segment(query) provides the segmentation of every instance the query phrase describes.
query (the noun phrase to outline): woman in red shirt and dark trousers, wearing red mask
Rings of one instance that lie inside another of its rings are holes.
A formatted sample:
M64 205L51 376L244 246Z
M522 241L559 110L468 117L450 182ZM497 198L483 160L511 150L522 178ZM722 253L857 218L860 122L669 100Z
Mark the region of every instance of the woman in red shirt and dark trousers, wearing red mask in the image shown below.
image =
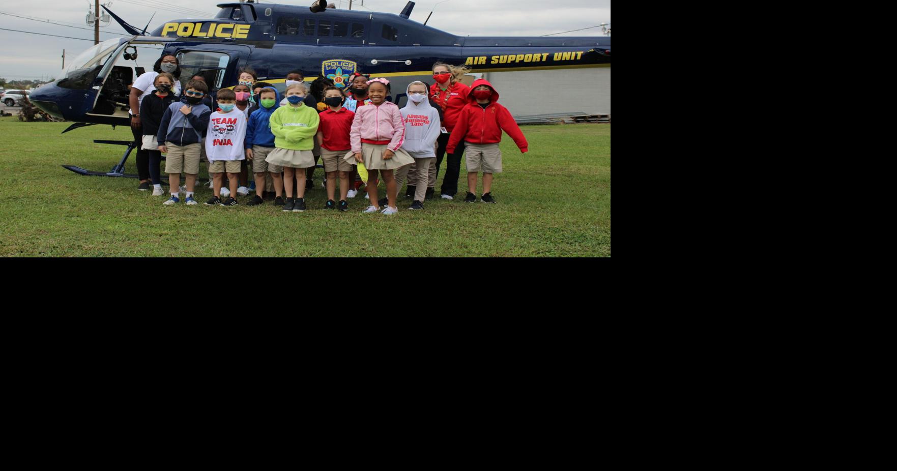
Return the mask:
M457 67L441 62L433 65L433 80L436 83L433 83L430 87L430 98L436 101L445 113L442 127L445 127L449 133L455 127L457 118L461 114L461 109L467 104L467 93L470 92L470 87L461 83L461 77L467 72L470 72L468 67ZM436 175L439 176L440 164L446 153L446 144L448 144L448 134L441 134L436 142L439 144L436 150ZM442 189L440 190L443 199L452 199L457 193L457 179L461 171L461 157L463 155L463 143L455 149L455 153L448 155L448 165L446 166L446 173L442 179ZM432 191L433 188L427 188L428 197L432 195Z

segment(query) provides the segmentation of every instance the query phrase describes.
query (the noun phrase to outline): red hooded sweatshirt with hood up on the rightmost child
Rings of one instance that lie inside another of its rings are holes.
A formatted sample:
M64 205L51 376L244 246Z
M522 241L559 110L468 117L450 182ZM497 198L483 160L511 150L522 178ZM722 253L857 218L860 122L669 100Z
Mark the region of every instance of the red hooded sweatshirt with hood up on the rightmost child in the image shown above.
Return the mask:
M483 109L476 102L474 90L480 85L488 85L492 89L492 96L489 97L489 105ZM514 143L520 148L521 153L529 150L527 138L524 137L520 127L514 118L511 118L510 111L498 103L499 92L483 79L478 79L470 87L470 94L467 95L467 104L457 118L455 129L448 138L447 153L454 153L457 144L464 139L470 144L498 144L501 143L501 131L508 133Z

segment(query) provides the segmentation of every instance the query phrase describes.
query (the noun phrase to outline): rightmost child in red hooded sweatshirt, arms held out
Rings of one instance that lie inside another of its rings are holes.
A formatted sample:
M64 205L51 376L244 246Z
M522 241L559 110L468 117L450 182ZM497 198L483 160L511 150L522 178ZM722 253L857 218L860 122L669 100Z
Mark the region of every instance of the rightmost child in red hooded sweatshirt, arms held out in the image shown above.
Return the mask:
M473 91L467 97L466 106L461 109L455 128L448 137L447 153L453 153L464 139L467 153L467 197L466 203L476 201L476 174L483 171L483 203L495 203L492 198L492 174L501 173L501 131L508 133L520 148L527 153L529 144L520 131L510 111L499 103L499 92L492 83L477 79Z

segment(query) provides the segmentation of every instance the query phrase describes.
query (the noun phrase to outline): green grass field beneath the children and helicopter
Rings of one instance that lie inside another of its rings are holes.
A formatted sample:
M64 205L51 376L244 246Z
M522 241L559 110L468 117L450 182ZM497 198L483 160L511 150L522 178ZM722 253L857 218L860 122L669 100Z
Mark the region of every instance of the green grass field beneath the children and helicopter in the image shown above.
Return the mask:
M505 135L504 172L492 186L496 205L463 202L465 162L454 201L422 211L361 214L363 194L347 213L325 211L327 192L306 192L305 213L271 202L238 207L163 206L137 191L136 179L83 177L73 164L108 171L124 147L93 139L132 139L126 127L76 129L70 123L0 118L0 256L3 257L609 257L611 126L522 126L530 151ZM443 162L444 171L445 162ZM164 170L164 163L162 164ZM127 162L136 173L135 159ZM437 183L437 193L440 188ZM205 178L205 164L201 178ZM481 187L477 194L482 193ZM167 187L163 187L167 188ZM380 188L381 193L384 188ZM200 188L202 203L212 190ZM402 190L400 195L404 195Z

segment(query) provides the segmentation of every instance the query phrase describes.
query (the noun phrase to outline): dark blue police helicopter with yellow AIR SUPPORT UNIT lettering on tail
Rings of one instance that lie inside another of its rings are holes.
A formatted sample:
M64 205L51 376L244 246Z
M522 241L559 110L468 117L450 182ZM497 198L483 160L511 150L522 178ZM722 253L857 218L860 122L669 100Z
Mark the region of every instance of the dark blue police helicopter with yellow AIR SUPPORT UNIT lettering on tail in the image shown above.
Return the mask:
M41 86L30 101L56 118L74 121L64 133L91 125L129 126L127 85L143 73L136 67L135 48L147 45L161 46L164 54L178 57L185 83L194 73L204 72L212 74L213 89L231 86L237 83L239 69L248 66L256 70L259 81L280 90L294 69L301 70L306 80L320 74L343 88L358 71L395 81L391 85L397 92L396 104L405 97L406 84L430 77L436 62L467 65L474 73L610 65L609 37L457 36L410 20L414 2L399 14L327 8L325 0L310 7L252 0L217 6L221 10L213 19L173 20L149 34L104 6L131 36L87 49L63 78ZM129 65L129 60L135 64ZM127 149L108 172L64 167L82 175L136 177L124 172L133 142L94 142Z

